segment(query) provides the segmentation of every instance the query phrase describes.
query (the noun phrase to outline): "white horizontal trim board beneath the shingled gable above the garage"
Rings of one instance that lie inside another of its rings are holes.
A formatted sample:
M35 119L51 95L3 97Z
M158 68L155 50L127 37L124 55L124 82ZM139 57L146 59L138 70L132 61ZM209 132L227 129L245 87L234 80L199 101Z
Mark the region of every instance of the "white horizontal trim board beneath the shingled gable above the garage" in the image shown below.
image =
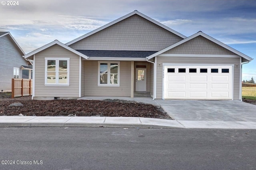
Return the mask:
M241 58L239 55L204 55L204 54L160 54L159 57L217 57L217 58Z

